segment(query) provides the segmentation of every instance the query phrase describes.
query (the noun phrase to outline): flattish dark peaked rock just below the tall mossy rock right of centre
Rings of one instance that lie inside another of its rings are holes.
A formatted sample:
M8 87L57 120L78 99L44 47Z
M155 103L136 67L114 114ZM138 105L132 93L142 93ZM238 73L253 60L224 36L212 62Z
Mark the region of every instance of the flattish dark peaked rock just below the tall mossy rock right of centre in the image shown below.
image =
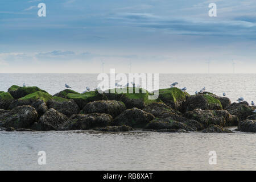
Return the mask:
M153 114L155 117L161 117L166 112L171 112L171 113L176 113L176 114L181 114L179 111L172 109L171 107L167 106L166 104L163 103L153 103L150 104L144 109L147 113Z

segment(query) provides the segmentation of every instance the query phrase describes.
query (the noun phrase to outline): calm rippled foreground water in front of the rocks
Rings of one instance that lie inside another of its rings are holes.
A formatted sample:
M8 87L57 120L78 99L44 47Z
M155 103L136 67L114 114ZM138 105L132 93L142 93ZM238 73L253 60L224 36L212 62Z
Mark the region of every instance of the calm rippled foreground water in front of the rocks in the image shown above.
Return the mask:
M181 170L256 169L255 134L0 131L0 169ZM39 166L38 151L47 163ZM217 164L209 165L209 151Z

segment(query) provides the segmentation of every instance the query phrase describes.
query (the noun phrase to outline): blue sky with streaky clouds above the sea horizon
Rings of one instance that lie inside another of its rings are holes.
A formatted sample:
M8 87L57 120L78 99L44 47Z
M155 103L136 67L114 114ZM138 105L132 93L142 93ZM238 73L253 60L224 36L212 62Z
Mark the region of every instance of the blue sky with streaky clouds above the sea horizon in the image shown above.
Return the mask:
M255 73L255 9L254 0L1 0L0 73L208 73L208 62L210 73Z

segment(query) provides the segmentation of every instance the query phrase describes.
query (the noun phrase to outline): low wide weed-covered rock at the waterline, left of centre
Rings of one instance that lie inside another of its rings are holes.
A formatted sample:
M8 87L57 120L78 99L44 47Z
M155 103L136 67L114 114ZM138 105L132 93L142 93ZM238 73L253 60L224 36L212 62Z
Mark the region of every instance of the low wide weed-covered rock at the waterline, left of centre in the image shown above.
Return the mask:
M95 127L112 125L113 118L109 114L76 114L69 118L64 130L88 130Z

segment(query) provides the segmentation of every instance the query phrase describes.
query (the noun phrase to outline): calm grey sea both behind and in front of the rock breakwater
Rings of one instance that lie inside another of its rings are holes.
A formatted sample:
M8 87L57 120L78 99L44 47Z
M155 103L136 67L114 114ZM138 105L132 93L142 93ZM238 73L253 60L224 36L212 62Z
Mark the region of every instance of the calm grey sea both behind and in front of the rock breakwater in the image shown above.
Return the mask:
M226 92L232 101L256 101L256 75L159 75L160 88L175 81L191 94L205 86L220 96ZM82 92L86 86L97 87L97 75L0 74L0 90L23 82L51 94L63 90L67 82ZM0 131L0 146L0 170L256 170L253 133ZM38 151L46 152L46 165L38 164ZM216 151L216 165L209 164L209 151Z

